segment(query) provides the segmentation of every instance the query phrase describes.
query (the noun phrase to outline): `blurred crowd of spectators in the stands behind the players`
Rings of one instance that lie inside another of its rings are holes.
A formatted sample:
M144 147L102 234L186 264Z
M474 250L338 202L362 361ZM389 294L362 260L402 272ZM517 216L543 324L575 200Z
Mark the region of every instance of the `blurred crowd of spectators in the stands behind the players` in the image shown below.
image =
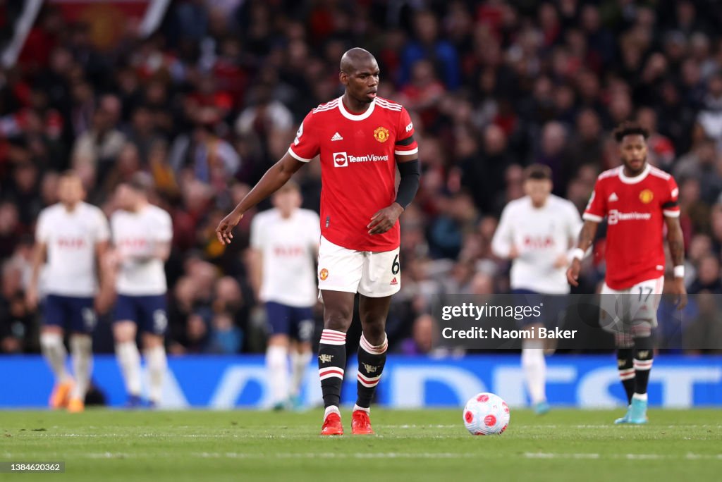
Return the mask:
M626 119L652 132L649 160L679 183L690 292L720 293L719 25L714 0L186 0L149 37L128 25L101 50L88 25L46 4L17 64L0 69L0 351L37 350L22 294L33 228L69 168L107 214L118 182L155 180L153 202L174 224L171 353L263 351L246 263L256 211L230 247L214 228L308 110L342 93L339 58L352 46L376 56L379 95L412 113L420 146L393 350L430 351L433 295L506 292L508 263L490 240L505 203L523 196L523 166L552 167L554 193L581 211L596 175L619 164L609 132ZM304 207L318 210L318 162L297 178ZM580 292L593 292L604 263L586 263ZM690 333L720 336L718 313L693 307Z

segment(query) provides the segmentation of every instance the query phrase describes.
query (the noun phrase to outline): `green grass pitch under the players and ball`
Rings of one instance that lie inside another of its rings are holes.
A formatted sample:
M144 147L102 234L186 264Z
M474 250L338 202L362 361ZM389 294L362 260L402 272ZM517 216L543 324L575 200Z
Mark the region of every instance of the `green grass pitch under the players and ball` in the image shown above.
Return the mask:
M473 437L458 410L372 412L376 436L319 437L321 410L0 412L0 461L60 461L64 474L0 481L671 481L722 480L722 411L511 412ZM350 411L342 411L350 432Z

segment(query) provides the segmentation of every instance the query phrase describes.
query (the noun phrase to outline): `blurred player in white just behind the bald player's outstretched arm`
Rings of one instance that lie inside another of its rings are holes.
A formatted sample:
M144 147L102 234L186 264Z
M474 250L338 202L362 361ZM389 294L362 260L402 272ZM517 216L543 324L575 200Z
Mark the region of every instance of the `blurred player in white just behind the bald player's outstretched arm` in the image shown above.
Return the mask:
M269 342L266 367L274 408L300 406L301 382L311 359L316 268L321 224L318 214L300 209L295 183L286 183L273 196L274 209L256 214L251 223L251 279L266 304ZM288 355L291 338L291 372Z

